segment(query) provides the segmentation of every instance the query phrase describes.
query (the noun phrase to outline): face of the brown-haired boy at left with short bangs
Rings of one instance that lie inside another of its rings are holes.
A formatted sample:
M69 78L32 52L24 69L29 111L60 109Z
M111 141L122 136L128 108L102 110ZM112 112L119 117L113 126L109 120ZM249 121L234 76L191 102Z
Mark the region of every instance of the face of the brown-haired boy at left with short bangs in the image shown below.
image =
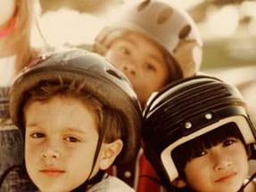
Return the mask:
M70 191L86 181L99 137L88 108L79 100L54 96L46 102L32 101L24 115L26 167L37 187ZM102 150L99 159L101 155Z

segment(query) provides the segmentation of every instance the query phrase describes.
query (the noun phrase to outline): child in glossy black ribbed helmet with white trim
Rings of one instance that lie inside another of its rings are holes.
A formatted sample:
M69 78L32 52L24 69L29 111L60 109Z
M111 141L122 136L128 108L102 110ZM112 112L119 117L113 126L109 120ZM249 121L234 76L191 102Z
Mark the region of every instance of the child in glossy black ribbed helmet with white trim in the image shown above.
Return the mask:
M168 191L256 191L256 132L235 86L206 75L170 84L148 101L142 132Z

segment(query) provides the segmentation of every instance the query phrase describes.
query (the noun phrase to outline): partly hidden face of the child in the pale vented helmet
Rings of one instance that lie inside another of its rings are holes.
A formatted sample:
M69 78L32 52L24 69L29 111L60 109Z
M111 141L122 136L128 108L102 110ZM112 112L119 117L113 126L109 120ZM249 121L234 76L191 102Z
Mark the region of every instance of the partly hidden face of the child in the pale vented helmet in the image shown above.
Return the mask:
M167 83L169 68L161 49L140 34L116 39L105 57L128 76L142 105Z

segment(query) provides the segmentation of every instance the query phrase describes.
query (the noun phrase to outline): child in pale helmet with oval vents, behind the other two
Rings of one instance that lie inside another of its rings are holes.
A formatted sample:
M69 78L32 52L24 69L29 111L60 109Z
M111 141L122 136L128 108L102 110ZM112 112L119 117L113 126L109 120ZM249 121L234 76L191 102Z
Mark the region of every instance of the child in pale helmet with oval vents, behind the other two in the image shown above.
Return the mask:
M128 76L143 107L152 92L199 70L202 39L186 12L162 1L143 1L131 4L118 19L96 36L95 52ZM137 160L117 167L117 176L138 192L159 191L151 180L140 178L156 175L138 154Z

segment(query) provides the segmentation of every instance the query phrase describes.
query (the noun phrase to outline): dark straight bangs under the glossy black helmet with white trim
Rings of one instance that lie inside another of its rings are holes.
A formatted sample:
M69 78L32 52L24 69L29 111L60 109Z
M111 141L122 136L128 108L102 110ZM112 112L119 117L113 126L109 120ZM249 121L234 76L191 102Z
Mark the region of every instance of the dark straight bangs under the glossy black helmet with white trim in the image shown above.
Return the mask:
M244 143L244 148L246 149L242 133L233 122L221 125L211 132L202 134L201 136L174 148L171 152L171 156L177 167L178 176L181 179L186 179L184 168L187 162L191 161L196 154L202 150L214 147L230 137L241 140Z

